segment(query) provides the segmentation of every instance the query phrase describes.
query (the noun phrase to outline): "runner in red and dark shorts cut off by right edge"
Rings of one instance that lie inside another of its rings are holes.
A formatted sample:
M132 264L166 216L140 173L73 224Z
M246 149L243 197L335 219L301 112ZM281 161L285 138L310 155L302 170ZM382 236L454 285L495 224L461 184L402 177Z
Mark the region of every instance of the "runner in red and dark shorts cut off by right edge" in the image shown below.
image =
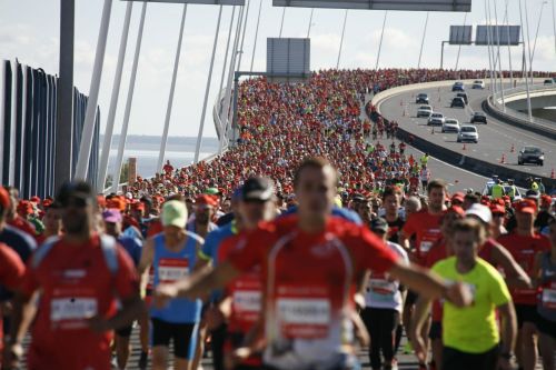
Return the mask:
M556 352L556 219L548 219L552 249L538 253L535 259L533 277L540 288L537 300L537 328L539 331L539 349L543 356L544 370L554 370Z

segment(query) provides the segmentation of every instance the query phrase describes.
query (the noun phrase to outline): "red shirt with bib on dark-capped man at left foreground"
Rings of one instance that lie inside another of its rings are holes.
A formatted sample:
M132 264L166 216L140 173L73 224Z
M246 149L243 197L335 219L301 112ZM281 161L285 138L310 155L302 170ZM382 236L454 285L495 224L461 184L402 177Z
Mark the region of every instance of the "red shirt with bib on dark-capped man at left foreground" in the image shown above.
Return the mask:
M100 238L93 236L81 246L59 241L37 268L28 267L22 293L41 290L29 349L30 369L110 369L112 333L92 332L86 318L109 318L117 311L116 297L125 300L138 292L133 262L121 247L117 259L118 271L110 272Z

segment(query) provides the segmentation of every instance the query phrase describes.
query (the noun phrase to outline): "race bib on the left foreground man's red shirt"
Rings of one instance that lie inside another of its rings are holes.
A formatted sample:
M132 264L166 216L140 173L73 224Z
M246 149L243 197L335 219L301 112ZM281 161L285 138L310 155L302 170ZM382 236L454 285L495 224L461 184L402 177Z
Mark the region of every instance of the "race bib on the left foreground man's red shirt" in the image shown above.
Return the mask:
M54 298L50 302L50 320L53 323L89 319L97 312L98 304L95 298Z

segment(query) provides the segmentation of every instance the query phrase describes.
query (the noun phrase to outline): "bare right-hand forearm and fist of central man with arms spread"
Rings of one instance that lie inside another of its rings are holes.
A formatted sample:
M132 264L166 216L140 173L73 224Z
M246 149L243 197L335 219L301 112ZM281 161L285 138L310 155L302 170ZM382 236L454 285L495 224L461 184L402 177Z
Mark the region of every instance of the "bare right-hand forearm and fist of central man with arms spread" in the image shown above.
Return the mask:
M389 271L394 279L428 299L444 298L457 307L471 303L471 292L461 283L447 284L436 273L419 266L396 263Z

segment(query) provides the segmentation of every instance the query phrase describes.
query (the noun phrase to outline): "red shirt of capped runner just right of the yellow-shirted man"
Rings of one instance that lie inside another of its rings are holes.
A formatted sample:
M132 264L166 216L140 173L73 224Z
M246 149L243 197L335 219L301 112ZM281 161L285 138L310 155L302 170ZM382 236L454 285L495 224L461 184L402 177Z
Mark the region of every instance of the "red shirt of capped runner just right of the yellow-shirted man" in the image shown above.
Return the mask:
M539 252L550 250L550 241L542 234L524 237L517 233L510 233L498 238L503 244L519 263L524 271L530 277L535 264L535 256ZM512 298L517 304L537 304L537 291L535 289L509 288Z

